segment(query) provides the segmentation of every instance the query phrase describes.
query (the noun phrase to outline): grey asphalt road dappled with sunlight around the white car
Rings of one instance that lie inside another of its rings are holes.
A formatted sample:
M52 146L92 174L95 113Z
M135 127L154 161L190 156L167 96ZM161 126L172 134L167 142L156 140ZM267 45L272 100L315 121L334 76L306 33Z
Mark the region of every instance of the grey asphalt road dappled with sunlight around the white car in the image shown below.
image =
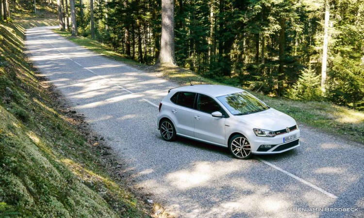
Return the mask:
M50 27L28 30L26 47L40 72L128 161L137 186L169 213L364 217L363 144L305 125L300 147L251 160L192 140L166 142L156 126L157 105L176 84L79 47ZM325 212L340 208L358 211Z

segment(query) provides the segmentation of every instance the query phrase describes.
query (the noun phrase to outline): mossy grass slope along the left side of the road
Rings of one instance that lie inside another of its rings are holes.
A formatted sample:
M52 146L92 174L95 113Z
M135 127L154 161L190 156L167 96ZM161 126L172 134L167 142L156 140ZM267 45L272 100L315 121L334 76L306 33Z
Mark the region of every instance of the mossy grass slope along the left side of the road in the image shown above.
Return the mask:
M25 60L24 28L53 16L0 21L0 217L149 217Z

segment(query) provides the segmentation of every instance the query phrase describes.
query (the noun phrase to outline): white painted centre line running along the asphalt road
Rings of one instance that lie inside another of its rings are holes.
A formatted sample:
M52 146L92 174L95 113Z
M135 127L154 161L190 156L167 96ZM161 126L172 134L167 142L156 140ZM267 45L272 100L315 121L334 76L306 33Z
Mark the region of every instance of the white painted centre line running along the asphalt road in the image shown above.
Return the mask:
M42 34L42 36L43 36L43 34ZM43 36L43 38L47 41L47 39L46 39L46 37L44 37ZM49 43L48 41L47 41L47 43ZM50 44L50 43L49 43ZM52 44L50 44L54 49L56 49L59 53L61 53L63 56L65 56L67 59L69 59L69 60L71 60L72 62L75 62L75 61L73 61L72 59L70 59L70 58L68 58L64 53L62 53L61 51L59 51L56 47L54 47ZM75 62L76 64L78 64L78 65L80 65L81 67L83 67L83 65L81 65L80 63L78 63L78 62ZM124 64L124 65L127 65L127 64ZM123 65L123 66L124 66ZM95 73L95 72L93 72L92 70L90 70L90 69L87 69L86 67L83 67L84 69L86 69L86 70L88 70L88 71L90 71L90 72L92 72L93 74L95 74L95 75L97 75L97 76L99 76L99 77L101 77L101 78L103 78L103 79L106 79L106 80L109 80L108 78L105 78L105 77L103 77L103 76L101 76L101 75L99 75L99 74L97 74L97 73ZM126 92L128 92L128 93L131 93L131 94L133 94L133 92L131 92L131 91L129 91L128 89L125 89L124 87L122 87L122 86L119 86L119 85L116 85L117 87L119 87L119 88L121 88L122 90L124 90L124 91L126 91ZM145 99L145 98L142 98L144 101L146 101L146 102L148 102L150 105L152 105L152 106L155 106L155 107L157 107L157 108L159 108L159 106L158 105L156 105L156 104L154 104L154 103L152 103L152 102L150 102L149 100L147 100L147 99ZM290 176L290 177L292 177L292 178L294 178L294 179L296 179L296 180L298 180L299 182L301 182L301 183L303 183L303 184L305 184L305 185L307 185L307 186L309 186L309 187L312 187L312 188L314 188L314 189L316 189L317 191L319 191L319 192L321 192L321 193L323 193L323 194L325 194L325 195L327 195L327 196L329 196L329 197L331 197L331 198L334 198L334 199L336 199L337 198L337 196L336 195L333 195L333 194L331 194L330 192L327 192L327 191L325 191L324 189L322 189L322 188L320 188L320 187L317 187L317 186L315 186L314 184L312 184L312 183L310 183L310 182L307 182L306 180L304 180L304 179L301 179L301 178L299 178L298 176L296 176L296 175L294 175L294 174L292 174L292 173L290 173L290 172L288 172L288 171L285 171L285 170L283 170L283 169L281 169L281 168L279 168L279 167L277 167L276 165L274 165L274 164L272 164L272 163L269 163L268 161L265 161L265 160L262 160L261 158L256 158L256 159L258 159L259 161L261 161L262 163L265 163L266 165L268 165L268 166L270 166L270 167L272 167L272 168L274 168L274 169L276 169L276 170L278 170L278 171L281 171L281 172L283 172L283 173L285 173L286 175L288 175L288 176Z

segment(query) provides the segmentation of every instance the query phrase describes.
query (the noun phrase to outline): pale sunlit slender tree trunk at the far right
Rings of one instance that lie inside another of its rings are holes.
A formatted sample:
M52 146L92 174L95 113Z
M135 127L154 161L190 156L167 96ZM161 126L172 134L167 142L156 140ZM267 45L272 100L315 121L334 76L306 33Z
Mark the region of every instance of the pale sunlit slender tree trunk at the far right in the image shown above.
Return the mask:
M329 41L329 19L330 5L329 1L325 1L325 27L324 27L324 45L322 49L322 69L321 69L321 90L325 92L326 70L327 70L327 46Z

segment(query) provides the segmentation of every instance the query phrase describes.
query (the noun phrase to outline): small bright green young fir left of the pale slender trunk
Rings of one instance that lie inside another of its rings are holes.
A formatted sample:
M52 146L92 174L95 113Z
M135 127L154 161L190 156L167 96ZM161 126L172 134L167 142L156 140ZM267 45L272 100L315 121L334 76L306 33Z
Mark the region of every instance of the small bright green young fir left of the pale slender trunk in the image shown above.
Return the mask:
M321 77L316 75L311 64L301 71L297 82L289 91L289 97L295 100L318 101L322 100Z

